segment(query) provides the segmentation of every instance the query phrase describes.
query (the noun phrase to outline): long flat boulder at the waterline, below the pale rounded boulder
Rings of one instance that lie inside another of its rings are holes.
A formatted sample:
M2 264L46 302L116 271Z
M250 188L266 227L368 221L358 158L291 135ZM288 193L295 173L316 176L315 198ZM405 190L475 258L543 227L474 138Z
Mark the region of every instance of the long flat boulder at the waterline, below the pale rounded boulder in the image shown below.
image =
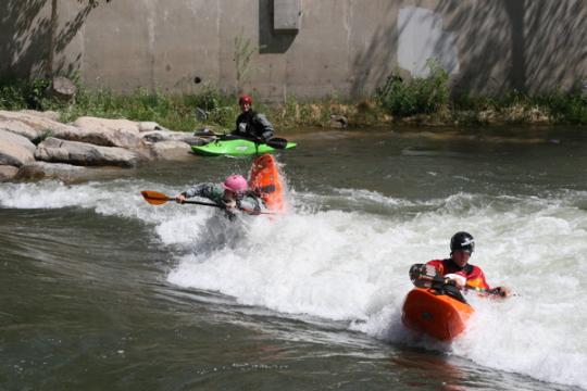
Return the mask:
M135 166L145 159L138 152L117 147L99 147L78 141L66 141L50 137L42 141L35 157L45 162L68 163L74 165L115 165Z

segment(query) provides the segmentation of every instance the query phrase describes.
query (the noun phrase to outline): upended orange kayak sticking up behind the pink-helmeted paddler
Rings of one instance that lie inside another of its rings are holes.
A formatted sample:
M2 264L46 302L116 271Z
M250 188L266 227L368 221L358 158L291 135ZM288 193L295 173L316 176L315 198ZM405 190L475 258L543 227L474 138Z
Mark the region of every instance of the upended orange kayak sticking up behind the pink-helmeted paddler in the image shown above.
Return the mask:
M267 210L284 212L284 185L275 157L265 153L255 157L249 176L249 186L265 203Z

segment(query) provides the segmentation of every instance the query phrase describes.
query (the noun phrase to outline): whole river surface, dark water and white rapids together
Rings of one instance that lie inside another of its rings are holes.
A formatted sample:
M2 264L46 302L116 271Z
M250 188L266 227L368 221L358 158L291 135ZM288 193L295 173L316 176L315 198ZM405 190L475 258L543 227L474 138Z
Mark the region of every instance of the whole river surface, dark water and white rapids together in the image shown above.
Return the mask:
M140 197L249 157L0 184L0 389L587 389L587 129L287 136L274 219ZM458 230L517 295L441 344L401 304Z

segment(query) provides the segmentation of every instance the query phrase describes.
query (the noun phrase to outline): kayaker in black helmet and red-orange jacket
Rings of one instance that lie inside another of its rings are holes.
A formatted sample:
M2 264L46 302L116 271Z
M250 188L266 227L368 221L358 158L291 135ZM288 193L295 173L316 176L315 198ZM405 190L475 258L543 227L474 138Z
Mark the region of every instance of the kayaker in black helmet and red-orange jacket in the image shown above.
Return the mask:
M475 239L469 232L457 232L450 239L450 258L427 262L440 275L454 281L459 288L479 289L487 293L510 295L507 287L491 288L485 279L480 267L471 265L469 258L475 250Z

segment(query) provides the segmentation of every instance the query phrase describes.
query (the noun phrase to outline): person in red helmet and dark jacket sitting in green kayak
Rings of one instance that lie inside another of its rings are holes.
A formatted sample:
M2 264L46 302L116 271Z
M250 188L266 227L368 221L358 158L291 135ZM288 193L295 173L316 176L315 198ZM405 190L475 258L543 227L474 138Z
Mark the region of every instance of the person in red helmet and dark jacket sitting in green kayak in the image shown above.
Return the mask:
M252 98L250 96L242 94L238 99L238 104L241 113L236 119L236 129L230 135L255 142L265 142L273 137L273 125L264 114L259 114L252 110Z

